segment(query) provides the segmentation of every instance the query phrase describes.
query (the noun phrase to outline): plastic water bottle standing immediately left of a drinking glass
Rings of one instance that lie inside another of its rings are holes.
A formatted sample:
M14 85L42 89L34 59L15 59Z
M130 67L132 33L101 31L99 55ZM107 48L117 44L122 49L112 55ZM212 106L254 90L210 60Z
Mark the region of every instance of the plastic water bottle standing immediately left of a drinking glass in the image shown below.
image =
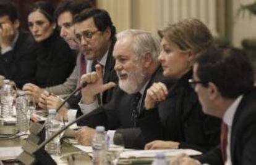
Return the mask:
M107 164L106 159L106 135L105 127L97 126L96 134L92 140L93 149L93 164L94 165L105 165Z

